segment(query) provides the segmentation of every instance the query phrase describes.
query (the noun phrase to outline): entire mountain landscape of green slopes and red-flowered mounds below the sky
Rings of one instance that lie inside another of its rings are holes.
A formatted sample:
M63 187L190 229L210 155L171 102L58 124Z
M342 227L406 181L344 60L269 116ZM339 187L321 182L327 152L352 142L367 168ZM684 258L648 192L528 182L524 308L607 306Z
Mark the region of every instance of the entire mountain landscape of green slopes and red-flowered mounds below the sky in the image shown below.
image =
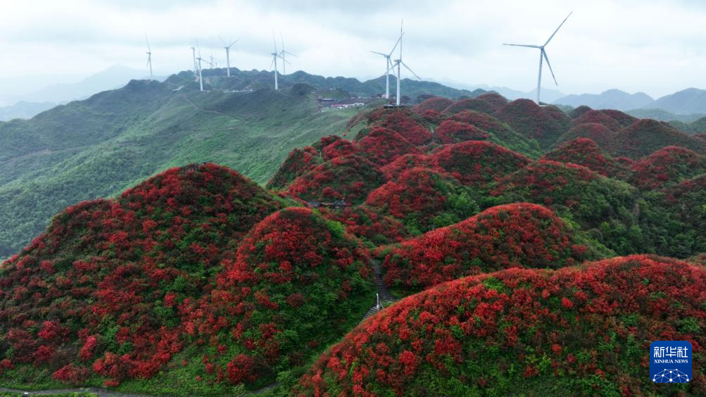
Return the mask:
M703 261L700 137L496 95L339 111L306 83L188 75L0 123L0 230L71 200L0 266L1 385L654 395L640 346L706 343L704 268L657 256ZM704 395L693 375L679 391Z

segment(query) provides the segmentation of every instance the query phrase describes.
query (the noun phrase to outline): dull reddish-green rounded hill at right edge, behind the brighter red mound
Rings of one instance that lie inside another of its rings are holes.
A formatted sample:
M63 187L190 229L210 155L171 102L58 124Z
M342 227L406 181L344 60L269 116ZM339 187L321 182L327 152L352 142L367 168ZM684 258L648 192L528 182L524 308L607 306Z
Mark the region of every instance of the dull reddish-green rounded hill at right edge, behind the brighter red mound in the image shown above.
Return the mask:
M706 155L706 142L685 134L664 122L642 119L621 129L604 148L611 155L639 159L666 146L681 146Z

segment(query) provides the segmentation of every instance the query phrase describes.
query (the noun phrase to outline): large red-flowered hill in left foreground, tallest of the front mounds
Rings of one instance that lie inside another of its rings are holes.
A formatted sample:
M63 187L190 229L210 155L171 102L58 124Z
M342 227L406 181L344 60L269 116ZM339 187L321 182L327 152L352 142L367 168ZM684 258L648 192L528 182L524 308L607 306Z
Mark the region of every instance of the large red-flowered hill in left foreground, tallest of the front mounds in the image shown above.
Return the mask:
M236 172L205 164L67 208L2 266L1 358L71 384L90 368L110 384L152 377L184 347L167 302L208 293L205 275L279 207Z

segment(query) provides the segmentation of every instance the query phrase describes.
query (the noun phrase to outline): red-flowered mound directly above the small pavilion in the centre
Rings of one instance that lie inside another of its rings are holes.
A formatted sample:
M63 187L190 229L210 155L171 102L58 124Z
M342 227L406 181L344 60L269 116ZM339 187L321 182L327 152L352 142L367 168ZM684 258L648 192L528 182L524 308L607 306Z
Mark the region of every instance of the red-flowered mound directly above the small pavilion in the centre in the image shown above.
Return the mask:
M364 201L368 193L383 184L378 167L358 155L347 155L322 165L294 179L287 193L303 200L349 203Z

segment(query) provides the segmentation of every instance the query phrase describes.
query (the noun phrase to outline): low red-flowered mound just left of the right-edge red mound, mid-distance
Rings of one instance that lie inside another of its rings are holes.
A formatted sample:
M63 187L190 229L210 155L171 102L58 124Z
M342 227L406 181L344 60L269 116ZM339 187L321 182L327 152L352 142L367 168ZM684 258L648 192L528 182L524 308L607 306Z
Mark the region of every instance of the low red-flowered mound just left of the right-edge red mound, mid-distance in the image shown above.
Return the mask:
M573 162L606 177L626 177L628 169L604 155L603 150L589 138L576 138L542 156L540 160Z

